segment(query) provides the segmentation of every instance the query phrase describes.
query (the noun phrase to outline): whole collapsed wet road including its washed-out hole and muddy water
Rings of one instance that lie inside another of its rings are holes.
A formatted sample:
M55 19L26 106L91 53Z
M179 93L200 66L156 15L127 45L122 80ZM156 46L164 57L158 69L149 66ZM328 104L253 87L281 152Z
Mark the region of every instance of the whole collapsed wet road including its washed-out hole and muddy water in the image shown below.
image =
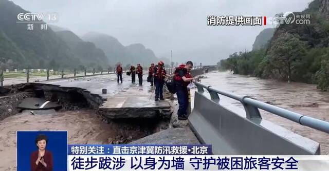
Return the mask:
M114 74L0 87L0 170L16 169L17 130L67 130L75 144L199 143L187 127L173 128L187 126L172 115L177 102L155 102L153 91Z

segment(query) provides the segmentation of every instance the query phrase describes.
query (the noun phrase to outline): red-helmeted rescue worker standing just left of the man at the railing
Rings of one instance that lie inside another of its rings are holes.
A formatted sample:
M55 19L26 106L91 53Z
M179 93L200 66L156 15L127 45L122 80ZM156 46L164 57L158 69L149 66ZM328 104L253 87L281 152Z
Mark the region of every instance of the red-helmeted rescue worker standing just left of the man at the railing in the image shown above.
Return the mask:
M165 84L165 76L169 76L166 73L165 70L165 63L162 61L159 61L157 67L154 70L153 76L154 76L154 84L155 84L155 101L159 100L165 100L163 98L163 84Z

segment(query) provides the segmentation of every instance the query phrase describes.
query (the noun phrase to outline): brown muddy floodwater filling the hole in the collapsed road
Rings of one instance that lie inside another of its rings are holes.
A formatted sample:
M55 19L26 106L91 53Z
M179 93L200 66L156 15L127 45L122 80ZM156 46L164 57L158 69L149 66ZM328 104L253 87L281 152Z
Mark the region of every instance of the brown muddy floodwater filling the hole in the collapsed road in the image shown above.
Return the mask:
M16 170L16 131L68 131L69 144L107 144L122 135L143 137L138 129L123 130L115 123L105 123L93 110L53 112L31 115L28 111L0 121L0 170Z

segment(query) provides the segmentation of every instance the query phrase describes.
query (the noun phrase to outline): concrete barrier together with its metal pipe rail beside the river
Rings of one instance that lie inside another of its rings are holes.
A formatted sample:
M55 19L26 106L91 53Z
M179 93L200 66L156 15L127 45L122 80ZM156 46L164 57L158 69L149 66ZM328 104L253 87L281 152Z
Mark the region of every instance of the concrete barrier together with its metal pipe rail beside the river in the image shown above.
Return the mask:
M195 82L189 125L201 143L217 155L320 155L320 144L262 119L260 109L329 133L329 123L287 111L249 96L216 90ZM208 92L206 92L206 90ZM245 110L231 111L220 96L240 101ZM245 114L244 114L245 112Z

